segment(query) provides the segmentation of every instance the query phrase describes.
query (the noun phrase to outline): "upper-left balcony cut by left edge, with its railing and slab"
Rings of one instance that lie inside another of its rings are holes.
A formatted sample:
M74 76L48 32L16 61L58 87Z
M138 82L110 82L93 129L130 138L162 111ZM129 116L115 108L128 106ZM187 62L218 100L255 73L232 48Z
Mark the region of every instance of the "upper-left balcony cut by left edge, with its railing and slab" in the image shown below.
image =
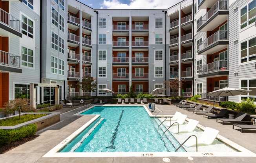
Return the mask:
M0 9L0 35L2 37L22 37L20 20L3 9Z

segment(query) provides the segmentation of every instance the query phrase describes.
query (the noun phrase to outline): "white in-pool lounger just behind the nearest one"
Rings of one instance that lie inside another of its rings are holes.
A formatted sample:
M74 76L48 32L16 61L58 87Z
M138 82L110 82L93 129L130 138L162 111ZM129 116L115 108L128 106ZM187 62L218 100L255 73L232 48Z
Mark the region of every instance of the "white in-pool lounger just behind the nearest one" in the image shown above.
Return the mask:
M196 129L196 126L198 125L199 121L196 120L188 120L188 123L186 125L180 125L179 126L179 133L180 132L192 132ZM178 133L178 128L177 127L171 127L169 129L170 132L172 132L173 134L177 134Z

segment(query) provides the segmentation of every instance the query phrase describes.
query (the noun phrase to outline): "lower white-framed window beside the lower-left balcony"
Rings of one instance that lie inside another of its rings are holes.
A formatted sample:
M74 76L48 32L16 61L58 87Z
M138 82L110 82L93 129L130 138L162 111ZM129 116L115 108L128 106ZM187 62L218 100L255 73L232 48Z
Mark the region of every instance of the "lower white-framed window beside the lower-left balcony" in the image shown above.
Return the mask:
M34 67L34 52L26 47L21 47L21 65Z

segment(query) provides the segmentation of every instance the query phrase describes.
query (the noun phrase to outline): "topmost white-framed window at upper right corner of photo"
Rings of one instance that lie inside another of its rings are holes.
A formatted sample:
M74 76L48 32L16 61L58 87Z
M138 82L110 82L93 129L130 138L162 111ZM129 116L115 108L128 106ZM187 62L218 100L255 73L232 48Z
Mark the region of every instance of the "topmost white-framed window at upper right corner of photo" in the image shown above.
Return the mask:
M256 21L256 0L240 10L240 29L247 27Z

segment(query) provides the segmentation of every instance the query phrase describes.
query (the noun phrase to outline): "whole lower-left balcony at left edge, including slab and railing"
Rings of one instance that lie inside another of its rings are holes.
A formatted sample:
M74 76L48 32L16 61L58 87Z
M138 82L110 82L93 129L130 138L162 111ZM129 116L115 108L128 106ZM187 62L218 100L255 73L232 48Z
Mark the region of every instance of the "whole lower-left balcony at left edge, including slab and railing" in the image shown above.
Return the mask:
M22 73L22 69L20 69L20 56L0 51L0 71Z

